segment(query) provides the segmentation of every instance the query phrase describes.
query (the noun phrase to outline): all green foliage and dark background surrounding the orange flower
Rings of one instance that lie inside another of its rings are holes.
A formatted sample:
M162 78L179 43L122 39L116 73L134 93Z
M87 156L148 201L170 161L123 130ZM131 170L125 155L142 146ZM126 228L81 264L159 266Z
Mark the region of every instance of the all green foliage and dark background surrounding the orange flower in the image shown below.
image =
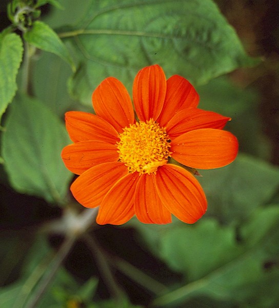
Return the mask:
M22 20L21 5L33 8ZM14 0L0 8L1 307L277 307L277 2ZM226 129L240 153L200 171L208 211L194 225L97 226L69 192L64 113L92 112L91 93L109 75L131 92L136 72L155 63L189 79L200 108L232 118ZM79 233L83 222L89 229Z

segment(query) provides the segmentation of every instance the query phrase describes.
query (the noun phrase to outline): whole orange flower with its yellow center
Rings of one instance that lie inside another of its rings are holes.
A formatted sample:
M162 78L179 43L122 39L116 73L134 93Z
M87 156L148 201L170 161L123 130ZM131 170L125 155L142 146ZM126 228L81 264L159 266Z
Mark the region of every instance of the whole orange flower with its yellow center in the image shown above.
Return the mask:
M95 114L66 113L73 144L62 158L79 175L71 192L83 206L99 206L98 224L120 225L134 215L154 224L170 223L171 214L186 223L202 217L206 197L188 170L230 164L238 142L222 130L230 118L198 109L198 101L186 79L166 80L153 65L137 73L133 105L124 85L109 77L92 94Z

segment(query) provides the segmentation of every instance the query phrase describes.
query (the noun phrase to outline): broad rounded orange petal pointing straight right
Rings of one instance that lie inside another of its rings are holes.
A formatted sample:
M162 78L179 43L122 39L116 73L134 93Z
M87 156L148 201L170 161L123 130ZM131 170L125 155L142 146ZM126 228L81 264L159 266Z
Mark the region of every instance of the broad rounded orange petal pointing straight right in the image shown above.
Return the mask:
M171 142L172 158L196 169L224 167L235 159L237 151L232 133L213 128L191 130Z

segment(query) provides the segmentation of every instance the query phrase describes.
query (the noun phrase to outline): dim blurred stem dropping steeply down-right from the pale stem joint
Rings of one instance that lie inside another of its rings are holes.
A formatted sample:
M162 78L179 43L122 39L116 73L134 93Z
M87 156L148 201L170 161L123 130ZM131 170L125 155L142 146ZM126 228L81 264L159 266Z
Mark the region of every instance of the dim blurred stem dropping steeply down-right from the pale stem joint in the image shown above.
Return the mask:
M83 236L83 239L85 240L87 246L90 248L92 254L94 255L100 274L104 279L105 284L108 287L112 297L115 298L116 302L120 304L124 298L124 293L118 286L111 273L111 269L106 262L106 256L102 252L93 235L85 234Z

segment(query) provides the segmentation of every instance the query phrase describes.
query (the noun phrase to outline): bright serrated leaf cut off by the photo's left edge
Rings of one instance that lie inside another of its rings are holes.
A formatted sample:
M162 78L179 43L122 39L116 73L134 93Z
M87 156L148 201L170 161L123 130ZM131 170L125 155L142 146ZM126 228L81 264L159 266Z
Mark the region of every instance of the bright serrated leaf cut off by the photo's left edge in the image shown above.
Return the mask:
M15 33L0 33L0 119L17 90L16 75L22 62L23 44Z

